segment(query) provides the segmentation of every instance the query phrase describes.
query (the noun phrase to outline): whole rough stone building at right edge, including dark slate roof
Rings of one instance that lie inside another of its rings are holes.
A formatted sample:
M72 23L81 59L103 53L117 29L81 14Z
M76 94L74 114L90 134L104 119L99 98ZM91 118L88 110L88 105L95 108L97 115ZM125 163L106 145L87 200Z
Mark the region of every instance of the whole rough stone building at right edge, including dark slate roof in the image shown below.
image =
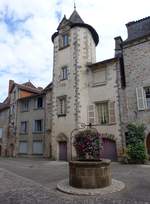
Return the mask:
M126 26L128 38L116 39L116 55L124 61L125 86L118 83L122 136L125 138L128 123L144 123L145 144L150 154L150 17Z

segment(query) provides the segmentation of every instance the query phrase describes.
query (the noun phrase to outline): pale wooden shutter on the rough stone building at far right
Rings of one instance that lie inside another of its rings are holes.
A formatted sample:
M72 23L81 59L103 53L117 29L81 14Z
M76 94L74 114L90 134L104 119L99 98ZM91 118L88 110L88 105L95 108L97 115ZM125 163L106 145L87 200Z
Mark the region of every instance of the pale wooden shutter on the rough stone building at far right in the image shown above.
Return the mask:
M138 110L145 110L147 107L146 96L143 87L136 88L137 107Z

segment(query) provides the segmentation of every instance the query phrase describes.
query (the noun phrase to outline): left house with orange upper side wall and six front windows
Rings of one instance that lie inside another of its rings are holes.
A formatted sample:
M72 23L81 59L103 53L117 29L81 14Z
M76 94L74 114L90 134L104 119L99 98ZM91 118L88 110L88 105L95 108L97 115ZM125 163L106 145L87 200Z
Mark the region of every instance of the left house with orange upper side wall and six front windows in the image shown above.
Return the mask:
M9 82L8 156L49 157L46 93L31 82ZM48 96L48 94L47 94Z

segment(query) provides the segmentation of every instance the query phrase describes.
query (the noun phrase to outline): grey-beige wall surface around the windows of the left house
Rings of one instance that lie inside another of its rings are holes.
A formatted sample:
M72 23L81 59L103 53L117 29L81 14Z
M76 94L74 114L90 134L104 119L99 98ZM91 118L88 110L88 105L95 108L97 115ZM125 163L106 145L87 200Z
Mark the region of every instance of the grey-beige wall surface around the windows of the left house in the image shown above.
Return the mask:
M16 152L19 154L19 142L27 141L28 143L28 155L32 155L33 151L33 141L43 142L43 149L45 150L45 96L43 95L43 108L35 108L35 100L37 97L28 98L29 100L29 111L21 111L21 101L18 101L18 111L17 111L17 132L16 132ZM41 133L34 133L33 123L34 120L43 120L43 131ZM28 121L28 134L20 133L20 124L22 121Z

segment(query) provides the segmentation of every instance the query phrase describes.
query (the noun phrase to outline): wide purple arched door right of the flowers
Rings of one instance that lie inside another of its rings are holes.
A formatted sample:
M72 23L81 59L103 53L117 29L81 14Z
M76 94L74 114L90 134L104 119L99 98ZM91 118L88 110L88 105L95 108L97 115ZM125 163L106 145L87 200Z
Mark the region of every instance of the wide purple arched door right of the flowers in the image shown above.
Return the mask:
M101 151L101 158L116 161L117 160L116 142L108 138L103 138L102 142L103 149Z

